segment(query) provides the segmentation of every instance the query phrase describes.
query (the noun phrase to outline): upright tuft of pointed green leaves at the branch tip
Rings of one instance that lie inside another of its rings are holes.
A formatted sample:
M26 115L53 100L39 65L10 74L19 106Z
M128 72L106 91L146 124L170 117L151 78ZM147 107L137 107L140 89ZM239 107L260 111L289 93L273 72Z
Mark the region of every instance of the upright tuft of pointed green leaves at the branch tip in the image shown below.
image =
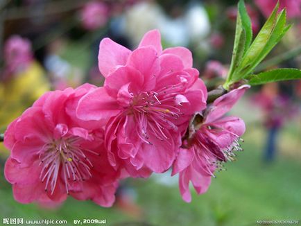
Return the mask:
M290 26L286 26L286 10L277 14L278 8L279 1L252 42L250 17L248 17L243 0L239 1L232 61L227 80L223 84L224 89L229 90L235 82L250 78L250 73L289 30Z

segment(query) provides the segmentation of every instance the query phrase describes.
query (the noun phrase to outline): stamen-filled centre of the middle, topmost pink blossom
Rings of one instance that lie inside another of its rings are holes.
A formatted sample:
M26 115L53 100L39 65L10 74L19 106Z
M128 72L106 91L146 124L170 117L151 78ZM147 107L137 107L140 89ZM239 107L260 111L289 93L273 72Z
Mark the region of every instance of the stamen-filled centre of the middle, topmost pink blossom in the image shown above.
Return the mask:
M179 94L178 85L163 87L158 92L140 92L132 97L128 114L135 116L138 126L139 138L152 145L149 132L157 139L169 139L168 130L177 130L175 121L184 113L180 110L180 104L175 103L175 96Z

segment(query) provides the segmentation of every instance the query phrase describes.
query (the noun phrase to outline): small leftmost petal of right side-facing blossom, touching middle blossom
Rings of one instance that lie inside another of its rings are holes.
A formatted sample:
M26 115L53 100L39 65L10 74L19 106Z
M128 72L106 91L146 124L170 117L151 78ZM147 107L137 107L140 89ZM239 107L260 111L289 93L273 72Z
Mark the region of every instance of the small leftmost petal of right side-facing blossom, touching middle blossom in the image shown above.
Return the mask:
M175 162L173 163L173 172L171 175L173 176L187 168L191 164L193 157L193 149L180 148L177 159L175 159Z

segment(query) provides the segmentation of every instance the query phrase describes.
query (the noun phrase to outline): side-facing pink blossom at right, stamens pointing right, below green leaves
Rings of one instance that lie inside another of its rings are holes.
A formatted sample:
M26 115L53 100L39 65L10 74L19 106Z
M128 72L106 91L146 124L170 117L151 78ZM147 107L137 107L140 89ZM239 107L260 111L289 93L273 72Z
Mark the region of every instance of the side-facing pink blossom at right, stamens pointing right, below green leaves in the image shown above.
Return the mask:
M222 116L248 87L243 85L234 89L209 105L205 110L203 122L184 142L186 148L180 148L173 164L172 175L180 173L179 186L184 201L191 201L189 181L198 194L205 193L216 168L221 168L223 162L233 159L233 150L242 150L238 141L245 132L245 124L234 116Z

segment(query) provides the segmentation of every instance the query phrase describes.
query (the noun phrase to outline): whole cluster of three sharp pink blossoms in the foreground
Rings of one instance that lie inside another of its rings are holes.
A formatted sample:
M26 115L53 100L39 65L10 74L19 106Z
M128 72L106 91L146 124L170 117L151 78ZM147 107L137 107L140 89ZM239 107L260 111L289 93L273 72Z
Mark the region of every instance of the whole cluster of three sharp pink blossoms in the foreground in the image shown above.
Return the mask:
M162 50L158 31L134 51L103 39L98 67L103 87L48 92L8 127L5 175L19 202L71 195L109 207L120 180L170 168L189 202L189 182L204 193L214 171L241 150L243 121L223 115L248 86L207 104L191 52Z

